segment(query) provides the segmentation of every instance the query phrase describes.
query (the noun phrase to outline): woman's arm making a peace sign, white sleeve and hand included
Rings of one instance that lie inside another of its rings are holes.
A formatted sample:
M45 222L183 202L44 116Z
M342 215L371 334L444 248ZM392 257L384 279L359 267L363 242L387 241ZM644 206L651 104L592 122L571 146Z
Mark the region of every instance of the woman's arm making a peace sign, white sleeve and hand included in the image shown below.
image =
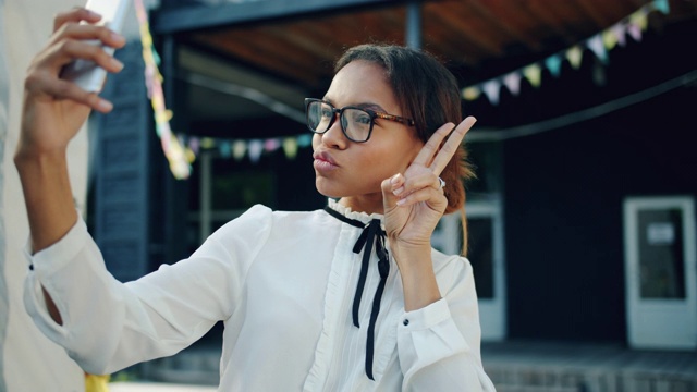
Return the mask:
M440 287L430 244L448 206L439 175L474 123L469 117L441 126L403 174L382 182L386 230L408 315L398 327L403 391L493 391L479 357L472 267L451 260L441 275L453 283Z

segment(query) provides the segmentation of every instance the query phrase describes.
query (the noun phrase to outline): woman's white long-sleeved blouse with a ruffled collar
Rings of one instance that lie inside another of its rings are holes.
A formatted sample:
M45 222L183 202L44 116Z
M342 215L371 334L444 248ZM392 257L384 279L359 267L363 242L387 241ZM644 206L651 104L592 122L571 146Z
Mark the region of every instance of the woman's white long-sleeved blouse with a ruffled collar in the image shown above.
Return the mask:
M382 216L329 206L364 223ZM493 391L479 353L472 266L432 250L442 299L405 311L390 256L375 322L374 380L367 330L380 274L371 254L352 320L364 232L327 211L252 207L189 258L125 284L105 268L84 222L29 254L25 306L39 329L90 373L169 356L224 321L220 391ZM388 245L389 249L389 245ZM48 315L41 285L62 326Z

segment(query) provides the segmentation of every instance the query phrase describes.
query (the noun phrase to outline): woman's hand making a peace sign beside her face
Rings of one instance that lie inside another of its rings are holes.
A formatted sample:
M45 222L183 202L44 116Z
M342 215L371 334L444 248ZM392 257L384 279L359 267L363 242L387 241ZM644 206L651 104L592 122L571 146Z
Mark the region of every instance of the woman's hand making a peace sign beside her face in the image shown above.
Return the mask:
M402 252L430 249L431 234L448 207L439 175L475 122L475 118L468 117L457 126L442 125L404 174L382 182L384 224L398 265Z

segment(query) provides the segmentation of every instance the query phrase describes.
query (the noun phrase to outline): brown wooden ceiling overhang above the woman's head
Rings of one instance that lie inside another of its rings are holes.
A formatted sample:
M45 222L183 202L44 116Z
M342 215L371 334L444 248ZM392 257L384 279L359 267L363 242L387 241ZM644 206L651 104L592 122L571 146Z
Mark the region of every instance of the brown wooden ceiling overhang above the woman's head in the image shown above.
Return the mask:
M420 46L474 83L538 60L612 26L646 0L258 0L167 7L157 36L220 54L262 73L326 87L332 62L351 46L405 44L418 9ZM670 1L664 17L697 15L697 0ZM412 20L413 21L413 20Z

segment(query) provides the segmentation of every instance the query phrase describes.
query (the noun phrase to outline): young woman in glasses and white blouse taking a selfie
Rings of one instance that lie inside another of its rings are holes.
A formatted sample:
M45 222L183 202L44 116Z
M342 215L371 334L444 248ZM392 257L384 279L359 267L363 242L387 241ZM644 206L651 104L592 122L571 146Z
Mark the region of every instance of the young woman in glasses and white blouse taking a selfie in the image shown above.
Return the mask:
M65 164L89 110L111 105L60 69L76 58L121 69L82 42L124 44L78 24L98 19L59 15L25 83L15 154L32 229L25 304L44 333L86 371L108 373L175 354L223 320L221 391L493 390L472 267L430 246L470 175L461 145L474 119L460 122L442 65L401 47L350 49L325 97L306 100L327 208L255 206L189 258L122 284L73 208Z

